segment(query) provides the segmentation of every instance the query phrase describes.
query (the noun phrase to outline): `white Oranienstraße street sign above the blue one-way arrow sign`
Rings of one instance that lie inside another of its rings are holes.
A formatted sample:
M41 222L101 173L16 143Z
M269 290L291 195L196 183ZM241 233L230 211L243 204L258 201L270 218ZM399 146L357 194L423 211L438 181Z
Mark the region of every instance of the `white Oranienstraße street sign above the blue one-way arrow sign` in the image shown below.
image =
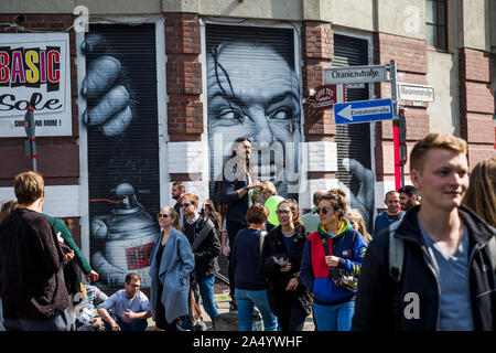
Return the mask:
M324 68L324 85L388 81L386 65Z

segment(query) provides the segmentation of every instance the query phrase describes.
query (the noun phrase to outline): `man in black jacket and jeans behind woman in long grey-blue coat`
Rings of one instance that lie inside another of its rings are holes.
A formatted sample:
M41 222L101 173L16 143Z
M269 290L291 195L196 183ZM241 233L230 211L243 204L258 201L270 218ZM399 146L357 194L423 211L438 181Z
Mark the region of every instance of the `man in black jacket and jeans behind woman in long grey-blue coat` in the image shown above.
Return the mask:
M214 302L214 282L215 274L220 269L217 261L220 255L220 240L214 223L198 214L198 197L195 194L184 194L182 210L185 216L183 233L190 240L195 256L192 287L196 287L196 284L200 286L203 306L215 324L218 310Z

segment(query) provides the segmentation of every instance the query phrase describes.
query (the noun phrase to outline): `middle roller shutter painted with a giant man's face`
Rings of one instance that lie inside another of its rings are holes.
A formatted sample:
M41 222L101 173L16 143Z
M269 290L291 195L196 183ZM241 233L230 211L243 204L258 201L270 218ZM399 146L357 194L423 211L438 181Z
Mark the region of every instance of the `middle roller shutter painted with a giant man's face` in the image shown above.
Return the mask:
M247 136L254 147L265 142L270 145L271 141L281 141L282 146L288 141L298 143L301 141L301 111L300 85L294 65L294 30L208 23L205 33L212 196L214 181L222 180L222 167L229 158L236 138ZM278 79L270 78L274 72L281 73ZM218 104L218 99L224 100ZM256 108L263 110L260 116L254 114ZM276 109L279 110L273 113ZM230 117L229 115L238 117L242 122L226 128L231 122L222 118ZM274 117L283 119L274 122ZM265 133L263 128L257 130L261 120L272 124L270 133ZM283 135L281 131L284 132L283 138L280 137ZM252 156L258 158L259 167L263 168L256 148ZM284 158L278 158L271 152L271 165L283 165L285 170L287 160L285 153ZM262 170L262 174L259 172L258 180L270 179L279 194L298 197L298 194L288 192L285 180L274 182L277 173L273 169L270 176L267 170ZM219 265L220 274L227 277L227 258L220 256Z

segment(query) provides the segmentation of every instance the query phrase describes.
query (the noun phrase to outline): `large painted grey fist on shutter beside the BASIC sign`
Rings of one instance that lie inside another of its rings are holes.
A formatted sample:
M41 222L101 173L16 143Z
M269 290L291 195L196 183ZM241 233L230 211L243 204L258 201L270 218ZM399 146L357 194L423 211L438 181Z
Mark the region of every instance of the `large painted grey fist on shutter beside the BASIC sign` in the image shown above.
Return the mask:
M120 135L133 117L130 93L122 83L122 65L106 53L105 39L99 35L88 35L80 49L86 55L101 54L91 62L83 81L82 96L87 101L83 121L98 126L105 136Z

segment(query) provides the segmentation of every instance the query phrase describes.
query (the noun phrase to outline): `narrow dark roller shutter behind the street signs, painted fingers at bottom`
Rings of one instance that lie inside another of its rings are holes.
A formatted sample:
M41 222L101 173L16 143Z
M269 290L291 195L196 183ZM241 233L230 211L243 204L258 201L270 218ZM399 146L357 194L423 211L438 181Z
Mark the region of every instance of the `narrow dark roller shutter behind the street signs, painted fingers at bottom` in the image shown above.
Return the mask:
M334 34L334 57L333 66L368 65L368 41L347 35ZM346 87L346 100L369 99L369 84L363 88ZM336 126L335 141L337 143L337 165L336 178L346 185L354 197L351 206L358 208L366 221L367 227L371 229L374 215L374 184L370 178L363 173L351 173L343 167L343 159L354 159L371 173L370 160L370 124L345 124ZM364 185L364 183L366 183ZM360 189L362 186L362 189ZM365 188L365 190L364 190Z

